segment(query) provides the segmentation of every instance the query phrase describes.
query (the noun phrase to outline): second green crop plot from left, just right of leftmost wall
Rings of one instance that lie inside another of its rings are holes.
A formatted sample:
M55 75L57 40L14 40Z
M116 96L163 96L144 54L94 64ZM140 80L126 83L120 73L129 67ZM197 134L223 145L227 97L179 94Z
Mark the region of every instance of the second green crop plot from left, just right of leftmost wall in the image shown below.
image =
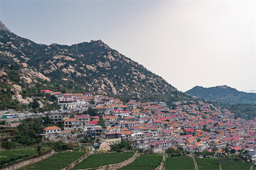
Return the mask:
M21 170L59 170L79 159L84 153L85 152L57 153L43 161L26 166Z

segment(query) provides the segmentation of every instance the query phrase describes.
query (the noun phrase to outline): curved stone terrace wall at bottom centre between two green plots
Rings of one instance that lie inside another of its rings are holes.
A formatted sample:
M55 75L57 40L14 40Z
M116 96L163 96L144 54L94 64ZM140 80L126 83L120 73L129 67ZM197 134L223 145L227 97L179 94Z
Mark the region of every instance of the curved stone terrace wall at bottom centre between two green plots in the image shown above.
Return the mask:
M133 157L131 157L123 162L117 163L117 164L110 164L110 165L105 165L102 167L95 167L95 168L87 168L87 169L83 169L83 170L117 170L121 167L125 167L126 165L131 164L131 162L133 162L136 158L137 158L137 154L135 154Z

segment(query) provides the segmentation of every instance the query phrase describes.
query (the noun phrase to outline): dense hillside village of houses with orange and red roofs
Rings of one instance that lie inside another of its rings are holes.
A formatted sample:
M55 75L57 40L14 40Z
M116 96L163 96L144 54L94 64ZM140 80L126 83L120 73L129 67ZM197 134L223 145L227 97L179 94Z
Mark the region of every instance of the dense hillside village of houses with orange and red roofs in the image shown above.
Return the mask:
M55 116L57 120L58 116L62 118L64 130L58 126L47 127L42 135L53 140L54 137L81 130L84 137L95 137L108 144L122 140L135 141L134 147L144 150L154 147L154 152L181 147L190 152L207 150L222 153L227 147L237 152L247 150L252 155L250 157L256 160L256 119L235 119L228 109L204 102L195 104L194 101L187 105L186 102L174 102L175 109L170 109L164 102L140 103L130 100L124 104L119 99L93 96L91 93L58 95L59 104L64 104L65 99L77 101L77 98L86 102L94 101L96 116L76 115L69 118L69 114L53 115L53 119ZM99 126L99 115L103 115L107 128Z

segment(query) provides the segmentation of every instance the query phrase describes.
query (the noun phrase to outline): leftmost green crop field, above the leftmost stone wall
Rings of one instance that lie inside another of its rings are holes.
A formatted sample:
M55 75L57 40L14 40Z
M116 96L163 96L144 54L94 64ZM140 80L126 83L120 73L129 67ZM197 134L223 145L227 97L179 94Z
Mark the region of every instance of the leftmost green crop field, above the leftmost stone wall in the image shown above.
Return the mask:
M37 150L6 150L0 152L0 164L16 161L21 158L32 156L37 153Z

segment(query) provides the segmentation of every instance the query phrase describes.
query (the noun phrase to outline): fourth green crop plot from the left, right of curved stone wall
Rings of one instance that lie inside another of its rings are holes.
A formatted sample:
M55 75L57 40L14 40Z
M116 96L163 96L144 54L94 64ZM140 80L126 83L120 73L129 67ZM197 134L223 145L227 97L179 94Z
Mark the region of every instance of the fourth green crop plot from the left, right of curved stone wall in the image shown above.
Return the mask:
M139 156L131 164L120 168L119 170L154 170L157 168L163 160L163 155L142 155Z

